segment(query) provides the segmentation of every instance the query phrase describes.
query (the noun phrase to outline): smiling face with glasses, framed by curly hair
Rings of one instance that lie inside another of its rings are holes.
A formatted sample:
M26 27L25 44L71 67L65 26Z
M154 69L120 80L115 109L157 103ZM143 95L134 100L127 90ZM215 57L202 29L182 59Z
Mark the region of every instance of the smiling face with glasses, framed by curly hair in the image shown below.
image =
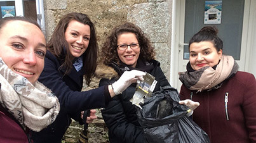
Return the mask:
M138 40L135 34L131 32L125 32L118 36L118 45L130 45L138 44ZM131 49L130 46L126 50L118 50L119 59L126 65L132 66L133 68L137 65L138 56L140 56L140 47L138 49Z

